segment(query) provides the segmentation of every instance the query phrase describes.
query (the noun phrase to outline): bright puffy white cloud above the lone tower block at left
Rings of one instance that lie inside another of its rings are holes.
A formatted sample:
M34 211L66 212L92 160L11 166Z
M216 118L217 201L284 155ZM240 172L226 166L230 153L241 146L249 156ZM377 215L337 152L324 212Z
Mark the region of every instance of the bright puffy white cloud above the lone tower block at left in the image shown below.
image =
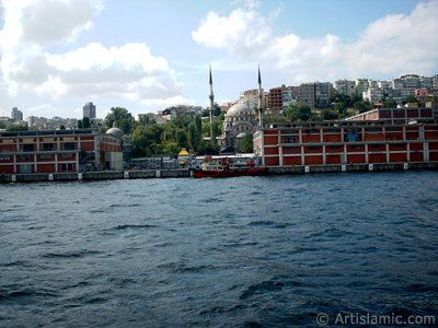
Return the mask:
M171 98L183 90L168 61L152 56L145 44L104 47L93 43L64 55L46 54L46 60L67 86L65 91L79 96L105 94L142 102Z

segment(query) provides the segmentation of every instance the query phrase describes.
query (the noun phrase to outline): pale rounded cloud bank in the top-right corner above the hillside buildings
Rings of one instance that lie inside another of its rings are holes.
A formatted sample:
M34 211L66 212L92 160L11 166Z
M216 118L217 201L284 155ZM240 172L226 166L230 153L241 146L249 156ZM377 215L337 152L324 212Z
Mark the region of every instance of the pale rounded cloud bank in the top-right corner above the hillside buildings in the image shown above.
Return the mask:
M438 69L438 1L419 3L410 15L388 15L370 24L346 48L354 73L436 73Z

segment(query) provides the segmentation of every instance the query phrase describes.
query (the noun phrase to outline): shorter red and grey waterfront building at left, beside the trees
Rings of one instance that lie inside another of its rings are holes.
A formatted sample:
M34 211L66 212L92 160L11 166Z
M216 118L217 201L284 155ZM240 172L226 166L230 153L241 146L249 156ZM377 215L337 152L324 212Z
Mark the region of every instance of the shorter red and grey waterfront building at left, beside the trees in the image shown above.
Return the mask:
M122 136L112 129L0 132L0 174L122 169Z

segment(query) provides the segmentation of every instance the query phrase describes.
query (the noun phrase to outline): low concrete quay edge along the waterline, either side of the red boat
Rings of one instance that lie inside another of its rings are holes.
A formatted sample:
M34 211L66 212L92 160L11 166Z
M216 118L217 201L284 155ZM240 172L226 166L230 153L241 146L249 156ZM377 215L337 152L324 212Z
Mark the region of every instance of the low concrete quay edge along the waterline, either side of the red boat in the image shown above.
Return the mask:
M396 164L350 164L350 165L309 165L268 167L268 175L383 172L408 169L438 169L438 163L396 163ZM183 178L191 177L188 169L145 169L145 171L103 171L53 174L1 174L0 184L37 181L74 181L107 179Z

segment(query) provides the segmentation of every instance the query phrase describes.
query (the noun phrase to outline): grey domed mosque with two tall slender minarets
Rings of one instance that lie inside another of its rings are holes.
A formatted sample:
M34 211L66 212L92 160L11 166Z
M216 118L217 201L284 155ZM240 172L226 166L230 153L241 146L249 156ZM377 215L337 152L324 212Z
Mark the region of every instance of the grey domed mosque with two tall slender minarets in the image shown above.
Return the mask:
M212 120L214 92L210 69L210 122ZM238 103L231 106L224 117L222 136L217 138L220 149L223 151L242 151L242 140L246 134L253 134L254 131L263 127L263 106L262 106L262 78L258 68L258 106L256 113L245 103ZM257 117L258 114L258 117ZM211 136L212 133L210 133Z

